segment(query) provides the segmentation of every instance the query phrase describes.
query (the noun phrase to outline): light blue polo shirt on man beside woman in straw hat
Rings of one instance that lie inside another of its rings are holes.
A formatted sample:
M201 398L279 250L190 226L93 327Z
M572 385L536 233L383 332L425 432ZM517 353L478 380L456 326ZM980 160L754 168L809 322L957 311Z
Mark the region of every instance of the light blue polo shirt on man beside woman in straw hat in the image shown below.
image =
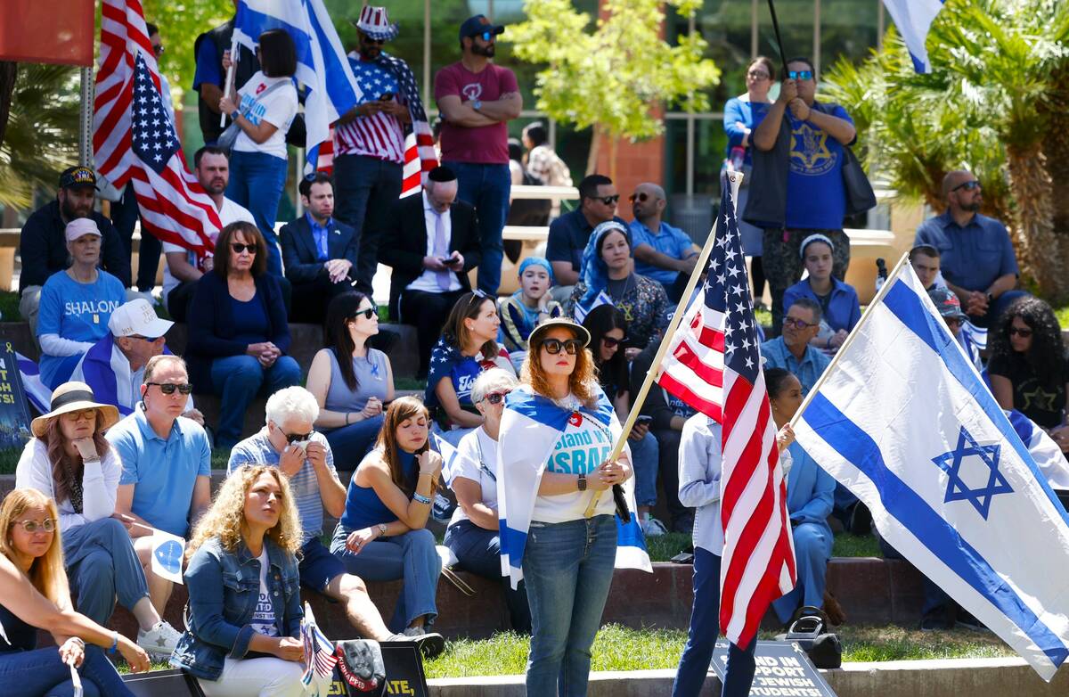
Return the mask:
M168 437L160 438L138 406L106 437L123 463L119 483L134 484L135 515L186 537L197 478L212 476L212 449L204 429L180 416Z

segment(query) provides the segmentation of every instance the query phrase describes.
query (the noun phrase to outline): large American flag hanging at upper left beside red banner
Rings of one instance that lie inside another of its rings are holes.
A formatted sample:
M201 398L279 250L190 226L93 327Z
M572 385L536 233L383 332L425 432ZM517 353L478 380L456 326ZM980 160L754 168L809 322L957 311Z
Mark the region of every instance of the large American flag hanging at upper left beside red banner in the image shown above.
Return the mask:
M213 250L222 223L186 168L139 0L103 3L93 150L97 173L117 189L133 180L142 231L198 257Z

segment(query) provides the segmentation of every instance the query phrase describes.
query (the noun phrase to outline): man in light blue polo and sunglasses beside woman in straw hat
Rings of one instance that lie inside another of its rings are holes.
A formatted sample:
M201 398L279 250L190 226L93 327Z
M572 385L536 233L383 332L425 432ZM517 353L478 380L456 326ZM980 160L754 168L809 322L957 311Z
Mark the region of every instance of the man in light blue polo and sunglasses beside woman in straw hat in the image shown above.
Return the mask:
M150 358L141 403L105 436L123 463L115 513L134 540L149 599L160 616L172 584L152 571L153 528L188 538L212 502L207 434L182 416L191 391L184 360L171 355Z

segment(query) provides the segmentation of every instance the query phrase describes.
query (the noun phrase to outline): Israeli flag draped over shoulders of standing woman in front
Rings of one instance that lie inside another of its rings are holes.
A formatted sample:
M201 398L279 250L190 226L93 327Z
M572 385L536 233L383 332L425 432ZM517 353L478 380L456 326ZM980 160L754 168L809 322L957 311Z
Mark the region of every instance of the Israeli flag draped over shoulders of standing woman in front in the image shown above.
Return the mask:
M620 438L620 421L604 392L599 393L594 408L582 407L579 414L608 428L614 443ZM527 531L545 464L571 416L572 412L534 394L526 385L509 392L505 400L497 448L497 515L501 575L509 576L512 588L516 588L524 577L522 566ZM638 527L634 477L623 483L623 492L631 509L631 521L624 523L616 516L616 568L653 573L646 539ZM602 495L611 496L611 491Z

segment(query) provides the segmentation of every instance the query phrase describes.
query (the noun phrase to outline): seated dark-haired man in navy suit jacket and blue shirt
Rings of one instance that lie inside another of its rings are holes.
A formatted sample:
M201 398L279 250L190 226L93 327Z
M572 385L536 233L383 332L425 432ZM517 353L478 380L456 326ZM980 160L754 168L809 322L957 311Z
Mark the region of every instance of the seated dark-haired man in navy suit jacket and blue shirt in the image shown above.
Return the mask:
M293 285L291 322L322 323L336 295L352 290L356 231L335 220L334 183L323 172L301 180L303 217L282 228L282 264Z

